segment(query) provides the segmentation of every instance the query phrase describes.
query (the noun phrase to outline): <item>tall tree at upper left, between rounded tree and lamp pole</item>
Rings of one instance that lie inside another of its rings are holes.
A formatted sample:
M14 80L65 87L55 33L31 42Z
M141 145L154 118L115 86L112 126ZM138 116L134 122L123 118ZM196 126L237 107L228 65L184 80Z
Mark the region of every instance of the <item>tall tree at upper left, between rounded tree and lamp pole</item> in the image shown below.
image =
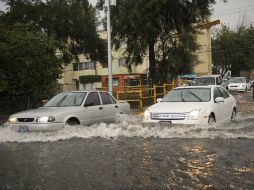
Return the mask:
M106 41L97 34L96 9L88 0L0 1L10 7L1 15L0 22L12 25L33 21L48 36L55 35L66 63L79 54L106 61Z

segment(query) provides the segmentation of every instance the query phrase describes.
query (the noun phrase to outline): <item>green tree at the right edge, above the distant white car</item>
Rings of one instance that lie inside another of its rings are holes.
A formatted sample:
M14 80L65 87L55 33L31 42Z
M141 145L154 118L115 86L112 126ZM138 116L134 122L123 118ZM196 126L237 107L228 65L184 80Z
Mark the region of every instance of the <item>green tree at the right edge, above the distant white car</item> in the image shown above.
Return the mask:
M222 27L212 40L213 64L222 71L231 69L233 76L241 70L254 69L254 28L240 26L232 30Z

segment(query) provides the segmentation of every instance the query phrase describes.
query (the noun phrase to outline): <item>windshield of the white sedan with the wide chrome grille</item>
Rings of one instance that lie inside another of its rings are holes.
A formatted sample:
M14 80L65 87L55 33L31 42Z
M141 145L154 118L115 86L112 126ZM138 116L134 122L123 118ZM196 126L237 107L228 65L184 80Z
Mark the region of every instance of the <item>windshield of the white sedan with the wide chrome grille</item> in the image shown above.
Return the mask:
M210 99L210 88L181 88L171 90L161 102L208 102Z

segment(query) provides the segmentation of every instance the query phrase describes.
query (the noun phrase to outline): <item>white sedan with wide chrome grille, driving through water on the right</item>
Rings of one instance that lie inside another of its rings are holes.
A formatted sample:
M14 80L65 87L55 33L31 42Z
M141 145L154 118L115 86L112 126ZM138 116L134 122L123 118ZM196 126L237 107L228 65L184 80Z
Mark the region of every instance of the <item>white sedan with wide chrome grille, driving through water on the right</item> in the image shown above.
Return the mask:
M143 124L207 125L236 116L236 100L223 87L188 86L171 90L144 112Z

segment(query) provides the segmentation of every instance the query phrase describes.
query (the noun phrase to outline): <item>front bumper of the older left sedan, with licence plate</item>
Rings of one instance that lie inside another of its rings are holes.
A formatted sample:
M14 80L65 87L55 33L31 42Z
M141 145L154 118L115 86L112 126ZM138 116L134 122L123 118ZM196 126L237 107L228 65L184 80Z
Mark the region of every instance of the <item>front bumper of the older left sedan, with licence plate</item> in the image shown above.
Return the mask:
M5 123L4 126L17 131L56 131L64 127L63 123Z

